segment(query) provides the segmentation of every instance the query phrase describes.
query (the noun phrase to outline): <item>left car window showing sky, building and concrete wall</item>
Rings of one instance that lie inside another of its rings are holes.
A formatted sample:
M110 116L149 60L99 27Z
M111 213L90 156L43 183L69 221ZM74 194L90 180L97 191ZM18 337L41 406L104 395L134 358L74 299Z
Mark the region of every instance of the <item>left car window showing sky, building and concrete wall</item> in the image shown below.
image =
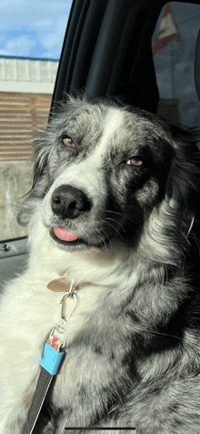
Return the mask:
M15 203L32 185L28 137L48 120L71 4L0 5L0 240L27 234L16 223Z

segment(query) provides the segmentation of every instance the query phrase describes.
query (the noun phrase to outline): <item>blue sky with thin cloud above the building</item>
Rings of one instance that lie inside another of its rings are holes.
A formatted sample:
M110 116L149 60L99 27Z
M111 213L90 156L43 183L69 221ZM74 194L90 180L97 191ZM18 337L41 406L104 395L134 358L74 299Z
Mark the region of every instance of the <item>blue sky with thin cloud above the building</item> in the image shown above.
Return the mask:
M72 0L0 0L0 55L59 59Z

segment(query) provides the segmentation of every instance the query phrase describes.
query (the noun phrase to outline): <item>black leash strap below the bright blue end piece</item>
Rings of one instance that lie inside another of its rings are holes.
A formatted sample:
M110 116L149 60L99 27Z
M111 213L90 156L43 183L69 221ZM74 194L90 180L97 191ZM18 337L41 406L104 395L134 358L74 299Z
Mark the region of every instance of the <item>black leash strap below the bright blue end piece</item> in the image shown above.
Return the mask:
M31 408L29 409L28 417L22 434L32 434L53 377L54 376L49 374L45 368L41 368L40 376L35 389L34 399L32 401Z

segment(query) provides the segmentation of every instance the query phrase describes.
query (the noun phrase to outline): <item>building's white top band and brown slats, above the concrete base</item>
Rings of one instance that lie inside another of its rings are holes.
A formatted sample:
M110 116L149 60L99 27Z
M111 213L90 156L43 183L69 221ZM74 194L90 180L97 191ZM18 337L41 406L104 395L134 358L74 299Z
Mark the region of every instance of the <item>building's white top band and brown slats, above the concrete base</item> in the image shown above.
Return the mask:
M0 162L26 161L48 119L58 61L0 56Z

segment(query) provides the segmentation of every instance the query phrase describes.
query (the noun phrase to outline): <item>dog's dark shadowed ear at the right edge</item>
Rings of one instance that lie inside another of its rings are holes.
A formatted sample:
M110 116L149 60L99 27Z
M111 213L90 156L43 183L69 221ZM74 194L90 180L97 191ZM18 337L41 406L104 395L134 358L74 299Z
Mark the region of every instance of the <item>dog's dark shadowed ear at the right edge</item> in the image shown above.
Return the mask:
M188 135L173 140L171 166L166 181L166 195L180 210L193 214L200 208L200 152Z

